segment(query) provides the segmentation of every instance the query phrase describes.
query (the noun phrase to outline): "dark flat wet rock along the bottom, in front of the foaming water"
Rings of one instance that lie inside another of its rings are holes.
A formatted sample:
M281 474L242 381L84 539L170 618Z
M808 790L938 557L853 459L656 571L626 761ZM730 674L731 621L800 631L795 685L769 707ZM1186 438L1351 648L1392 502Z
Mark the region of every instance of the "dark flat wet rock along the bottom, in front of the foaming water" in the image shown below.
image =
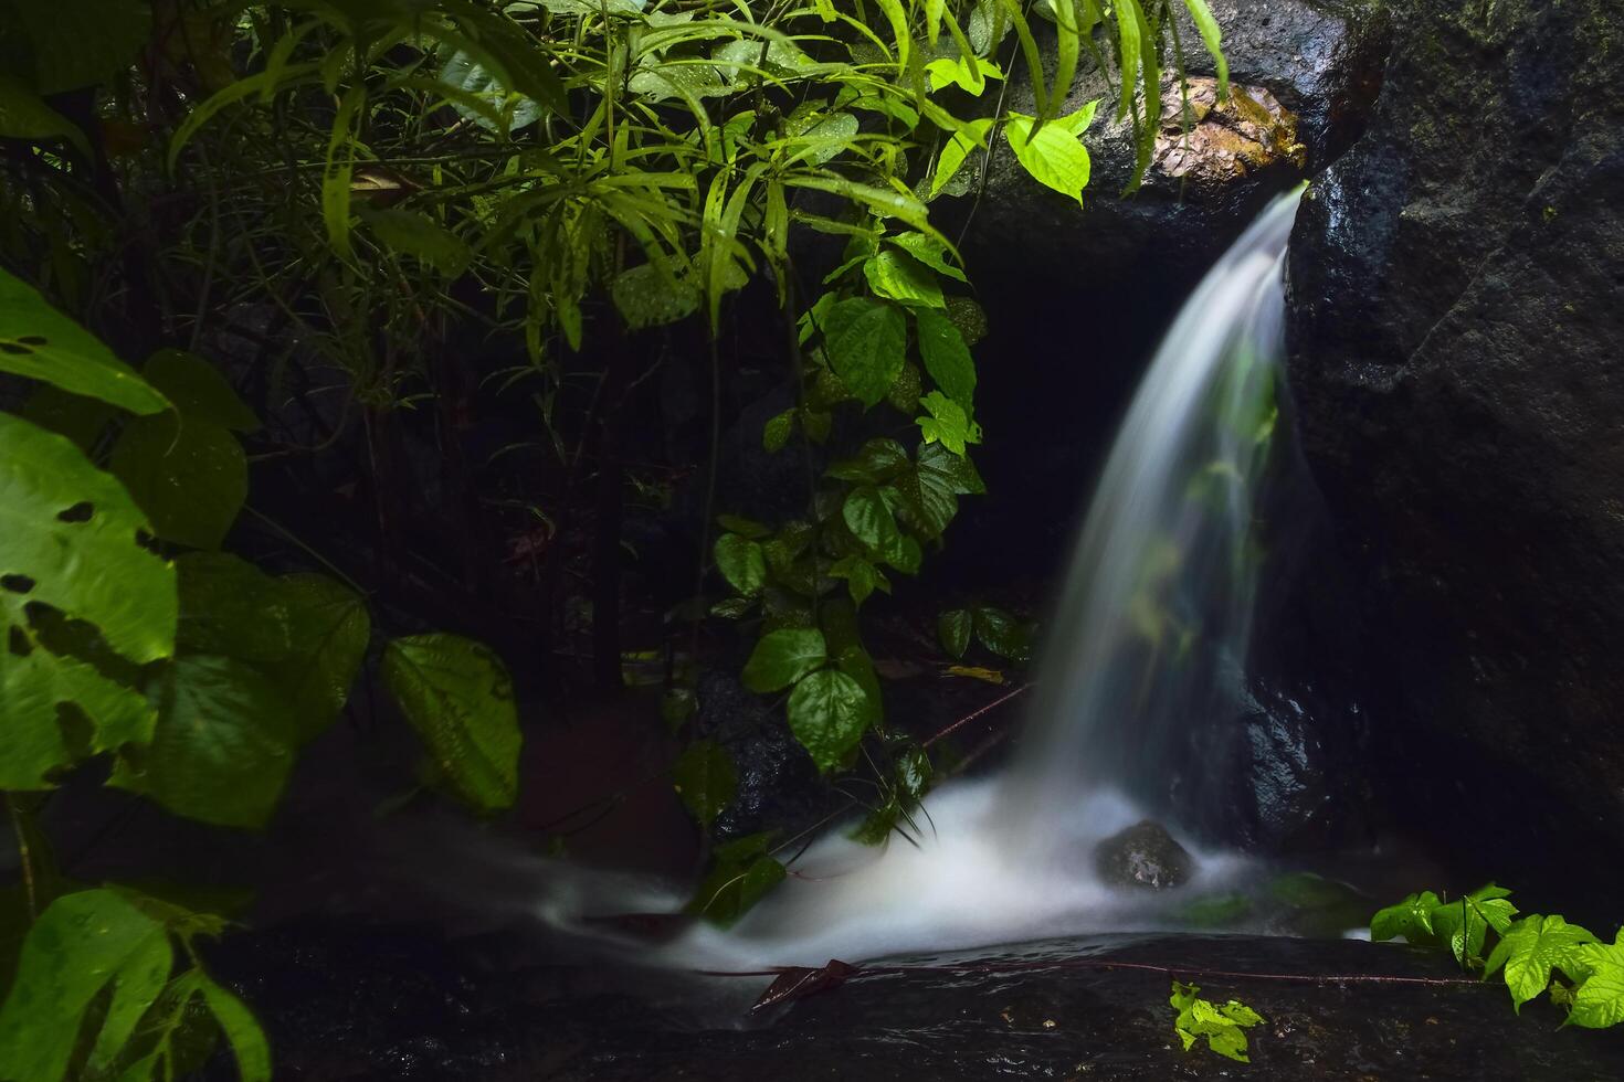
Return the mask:
M489 959L523 954L512 947L487 944L481 962L427 934L307 926L240 938L213 964L265 1019L276 1077L289 1080L1624 1077L1624 1033L1559 1030L1546 1004L1517 1015L1504 988L1458 981L1447 962L1392 944L1114 936L1005 947L874 967L767 1017L749 1011L765 978L601 964L499 972ZM1249 1067L1181 1050L1169 973L1156 967L1263 1015ZM234 1071L218 1063L208 1077Z

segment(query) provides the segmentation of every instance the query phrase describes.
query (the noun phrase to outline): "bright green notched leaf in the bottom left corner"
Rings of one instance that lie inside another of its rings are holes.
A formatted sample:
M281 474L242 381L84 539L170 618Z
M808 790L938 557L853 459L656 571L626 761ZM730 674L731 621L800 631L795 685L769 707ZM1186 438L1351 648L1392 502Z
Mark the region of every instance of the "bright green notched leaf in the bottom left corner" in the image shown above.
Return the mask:
M112 999L91 1051L107 1066L169 981L174 951L161 923L117 891L67 894L23 941L16 978L0 1006L0 1077L57 1082L109 985Z

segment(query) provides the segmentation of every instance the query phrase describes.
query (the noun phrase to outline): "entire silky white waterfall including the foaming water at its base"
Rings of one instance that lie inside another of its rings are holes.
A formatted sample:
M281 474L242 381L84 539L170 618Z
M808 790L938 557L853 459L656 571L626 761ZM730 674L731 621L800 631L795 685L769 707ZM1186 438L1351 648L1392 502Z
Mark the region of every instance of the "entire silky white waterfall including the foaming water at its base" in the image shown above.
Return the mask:
M1246 230L1156 350L1090 505L1015 762L932 793L916 844L830 834L732 930L697 928L666 960L822 965L1176 926L1190 892L1242 874L1194 840L1190 816L1218 787L1182 749L1246 667L1299 196ZM1099 881L1095 845L1147 814L1195 855L1195 882L1153 894Z

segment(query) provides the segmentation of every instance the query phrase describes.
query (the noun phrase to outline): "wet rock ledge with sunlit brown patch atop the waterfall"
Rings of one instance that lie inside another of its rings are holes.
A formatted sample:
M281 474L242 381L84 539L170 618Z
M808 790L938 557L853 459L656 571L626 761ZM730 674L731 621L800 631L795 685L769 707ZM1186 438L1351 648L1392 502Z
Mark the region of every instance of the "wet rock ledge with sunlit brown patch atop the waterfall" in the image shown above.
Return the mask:
M1380 5L1234 0L1215 3L1213 11L1237 101L1212 114L1203 96L1215 89L1213 63L1181 10L1186 70L1195 79L1190 140L1186 143L1179 131L1181 96L1169 65L1164 135L1155 164L1143 190L1121 198L1134 174L1132 125L1116 120L1114 75L1108 78L1085 62L1060 110L1101 102L1085 138L1093 177L1083 206L1041 187L999 146L966 235L976 256L973 266L983 258L997 260L996 250L1005 247L1004 260L1018 260L1026 284L1044 269L1072 287L1080 274L1108 281L1147 264L1200 271L1270 195L1353 141L1374 99L1387 47ZM1030 81L1017 76L1005 105L1034 112ZM1228 122L1220 123L1224 114ZM1242 135L1247 125L1252 130ZM1237 152L1239 141L1250 143L1244 154Z

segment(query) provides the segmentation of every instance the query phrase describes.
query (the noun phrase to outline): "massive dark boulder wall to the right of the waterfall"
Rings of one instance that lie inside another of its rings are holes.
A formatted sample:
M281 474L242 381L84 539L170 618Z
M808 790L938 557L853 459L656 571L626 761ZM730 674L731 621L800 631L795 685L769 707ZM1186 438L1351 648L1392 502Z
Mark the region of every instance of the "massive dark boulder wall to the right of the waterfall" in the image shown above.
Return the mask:
M1540 814L1618 847L1624 5L1402 11L1369 130L1298 221L1298 430L1393 745L1431 756L1416 793L1470 808L1470 847Z

